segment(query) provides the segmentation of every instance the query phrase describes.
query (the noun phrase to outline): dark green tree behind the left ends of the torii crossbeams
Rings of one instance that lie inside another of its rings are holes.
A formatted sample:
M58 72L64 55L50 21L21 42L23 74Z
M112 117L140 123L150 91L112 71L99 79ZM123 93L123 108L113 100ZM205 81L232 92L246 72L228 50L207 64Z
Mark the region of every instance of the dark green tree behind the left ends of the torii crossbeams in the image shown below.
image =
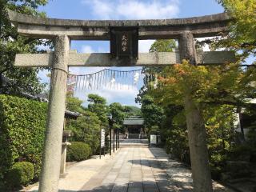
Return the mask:
M44 86L39 82L38 69L25 69L14 66L15 54L37 53L39 45L47 44L42 40L24 38L18 35L17 30L10 24L7 9L22 14L38 15L45 17L44 13L38 12L38 6L45 6L46 0L22 0L0 1L0 92L8 94L19 94L25 91L30 94L38 94ZM4 86L2 76L10 78Z

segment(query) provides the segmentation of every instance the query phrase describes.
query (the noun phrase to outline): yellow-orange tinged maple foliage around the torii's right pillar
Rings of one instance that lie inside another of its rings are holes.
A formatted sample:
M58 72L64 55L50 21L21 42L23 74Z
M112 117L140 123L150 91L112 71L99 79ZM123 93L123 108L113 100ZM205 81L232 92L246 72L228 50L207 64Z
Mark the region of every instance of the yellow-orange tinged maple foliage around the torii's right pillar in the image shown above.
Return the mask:
M255 69L242 70L237 64L193 66L183 61L182 64L166 67L159 76L162 89L148 93L159 106L184 106L184 98L187 90L190 90L191 99L203 114L214 178L219 177L226 165L227 155L234 147L234 112L246 107L247 98L255 93L251 86L251 70ZM187 136L186 129L178 130L182 126L174 123L175 118L178 117L173 118L166 144L169 145L170 152L177 154L178 146L183 147L180 151L186 152L184 144ZM185 157L184 154L178 156Z

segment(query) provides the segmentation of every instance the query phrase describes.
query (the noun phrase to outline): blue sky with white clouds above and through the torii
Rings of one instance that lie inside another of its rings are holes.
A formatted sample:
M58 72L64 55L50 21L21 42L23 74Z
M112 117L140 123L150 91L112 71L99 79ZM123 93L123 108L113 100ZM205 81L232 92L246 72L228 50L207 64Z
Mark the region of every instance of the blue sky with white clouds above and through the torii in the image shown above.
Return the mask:
M46 6L39 7L46 12L48 18L66 19L158 19L189 18L207 14L218 14L224 10L215 0L49 0ZM139 52L148 52L152 40L139 41ZM110 52L107 41L72 41L71 50L78 53ZM114 70L134 70L134 67L112 67ZM101 67L72 67L72 74L91 74L102 70ZM42 82L49 82L46 70L39 72ZM139 83L138 85L142 85ZM125 82L123 83L125 85ZM75 96L86 101L87 94L99 94L106 98L108 104L120 102L122 105L139 106L134 102L140 86L130 89L83 90Z

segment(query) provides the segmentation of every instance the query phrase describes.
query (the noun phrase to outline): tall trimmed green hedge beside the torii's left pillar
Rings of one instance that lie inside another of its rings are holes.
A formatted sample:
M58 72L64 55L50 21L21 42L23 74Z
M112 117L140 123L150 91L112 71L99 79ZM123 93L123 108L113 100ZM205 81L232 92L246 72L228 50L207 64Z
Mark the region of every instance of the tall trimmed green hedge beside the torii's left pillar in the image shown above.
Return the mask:
M15 162L41 166L47 103L0 94L0 181Z

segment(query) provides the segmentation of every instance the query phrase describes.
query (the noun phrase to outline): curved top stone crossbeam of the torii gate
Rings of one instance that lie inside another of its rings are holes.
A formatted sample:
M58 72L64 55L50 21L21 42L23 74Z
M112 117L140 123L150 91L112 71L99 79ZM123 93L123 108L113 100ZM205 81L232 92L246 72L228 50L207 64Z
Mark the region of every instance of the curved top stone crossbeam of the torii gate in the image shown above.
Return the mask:
M152 20L71 20L39 18L8 11L18 33L33 38L54 38L67 35L77 40L110 40L110 26L136 26L138 39L178 38L190 31L194 38L210 37L226 31L231 18L228 14L212 14L194 18Z

